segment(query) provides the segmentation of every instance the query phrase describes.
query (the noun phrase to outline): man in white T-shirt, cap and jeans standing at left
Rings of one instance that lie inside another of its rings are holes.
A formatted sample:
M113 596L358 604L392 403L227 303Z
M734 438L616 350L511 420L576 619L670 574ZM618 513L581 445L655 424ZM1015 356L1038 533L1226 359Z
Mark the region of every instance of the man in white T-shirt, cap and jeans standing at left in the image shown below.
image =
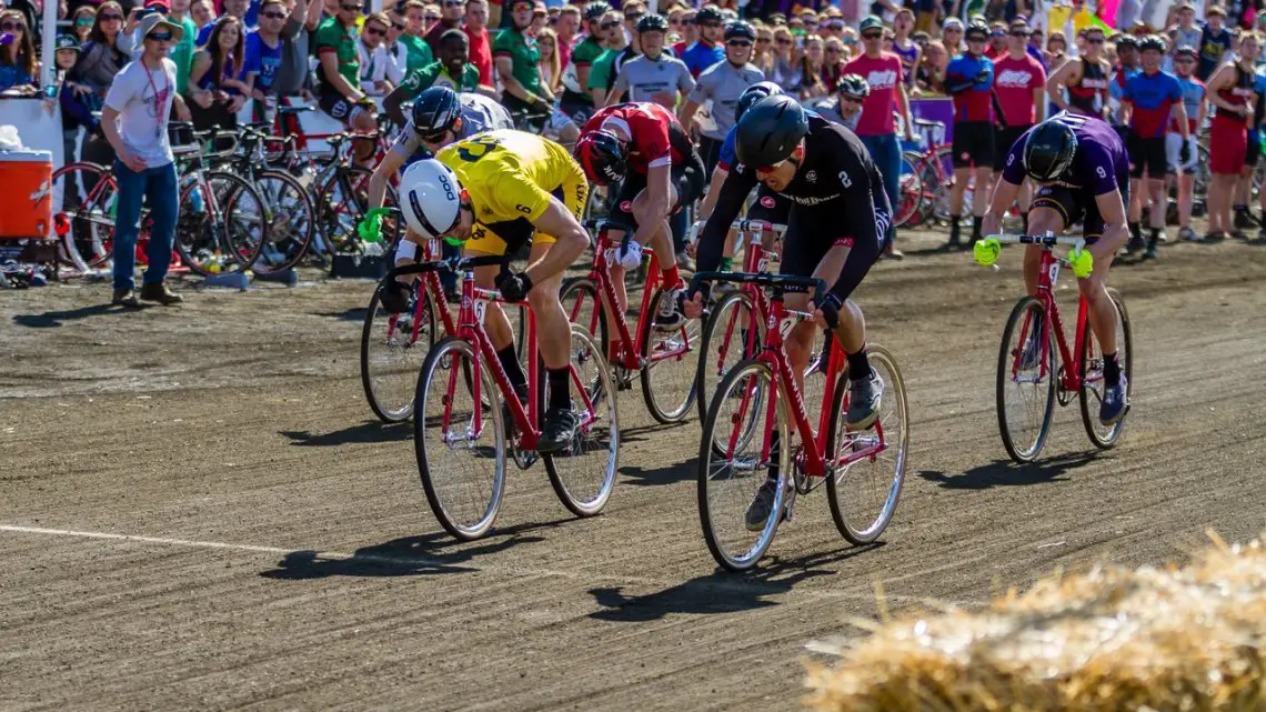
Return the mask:
M141 205L149 204L149 267L144 274L141 299L161 304L182 302L166 284L171 266L171 245L176 232L177 186L167 118L172 103L181 120L190 120L176 91L176 63L167 58L180 42L184 28L158 14L141 20L144 48L123 67L105 95L101 129L118 156L114 177L119 184L114 223L114 299L113 304L139 308L133 271L137 262L137 236L141 232Z

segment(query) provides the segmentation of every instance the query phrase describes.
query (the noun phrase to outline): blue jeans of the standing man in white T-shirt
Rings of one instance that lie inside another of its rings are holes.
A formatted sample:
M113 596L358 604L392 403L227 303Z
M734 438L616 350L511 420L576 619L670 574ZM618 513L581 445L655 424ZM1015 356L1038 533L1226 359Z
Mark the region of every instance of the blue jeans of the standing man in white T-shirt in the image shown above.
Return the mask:
M141 172L114 161L114 180L119 182L114 219L114 289L133 289L137 269L137 237L141 234L141 204L148 201L149 267L144 284L161 284L171 266L171 243L176 234L176 165L167 163Z

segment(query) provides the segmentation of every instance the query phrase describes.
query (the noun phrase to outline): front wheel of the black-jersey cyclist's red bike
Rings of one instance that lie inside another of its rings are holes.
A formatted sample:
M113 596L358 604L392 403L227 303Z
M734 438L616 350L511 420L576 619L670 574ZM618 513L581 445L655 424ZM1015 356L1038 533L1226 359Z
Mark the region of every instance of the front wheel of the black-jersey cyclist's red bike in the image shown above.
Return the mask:
M791 465L790 433L785 405L777 399L774 371L761 361L743 361L722 379L699 445L699 522L717 563L732 571L751 569L774 541L786 507L787 473ZM772 417L772 421L771 421ZM766 433L779 433L779 450L763 459ZM744 433L760 433L749 437ZM714 442L727 443L715 452ZM760 531L748 531L747 508L777 466L774 505Z

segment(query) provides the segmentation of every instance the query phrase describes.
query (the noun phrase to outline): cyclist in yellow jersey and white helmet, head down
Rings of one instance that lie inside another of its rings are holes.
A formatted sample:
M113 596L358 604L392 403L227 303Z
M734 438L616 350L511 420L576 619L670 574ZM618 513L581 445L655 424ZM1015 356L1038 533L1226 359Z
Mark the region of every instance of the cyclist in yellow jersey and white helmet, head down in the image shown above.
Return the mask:
M538 136L501 129L442 148L410 166L400 180L400 209L409 239L463 241L466 256L505 255L532 242L528 269L501 272L480 267L480 286L501 290L510 302L528 299L536 314L541 356L549 381L539 452L557 452L576 435L568 367L571 326L558 300L562 272L589 245L580 224L589 184L567 149ZM527 376L515 353L509 319L499 305L485 327L506 375L527 398Z

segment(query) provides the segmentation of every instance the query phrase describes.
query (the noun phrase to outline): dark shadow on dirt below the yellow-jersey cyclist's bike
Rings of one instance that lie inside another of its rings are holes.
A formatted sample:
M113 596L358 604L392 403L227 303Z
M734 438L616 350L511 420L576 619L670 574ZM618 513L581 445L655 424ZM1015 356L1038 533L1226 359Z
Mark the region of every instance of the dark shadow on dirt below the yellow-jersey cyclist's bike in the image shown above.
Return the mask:
M494 530L491 537L473 544L458 544L446 532L432 532L357 549L349 557L332 556L319 551L291 551L275 569L261 571L266 579L308 580L328 576L418 576L428 574L461 574L477 571L481 556L508 549L544 541L543 536L525 536L524 532L557 527L573 519L533 522Z

